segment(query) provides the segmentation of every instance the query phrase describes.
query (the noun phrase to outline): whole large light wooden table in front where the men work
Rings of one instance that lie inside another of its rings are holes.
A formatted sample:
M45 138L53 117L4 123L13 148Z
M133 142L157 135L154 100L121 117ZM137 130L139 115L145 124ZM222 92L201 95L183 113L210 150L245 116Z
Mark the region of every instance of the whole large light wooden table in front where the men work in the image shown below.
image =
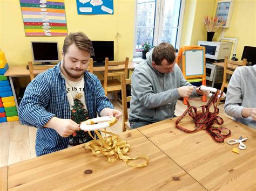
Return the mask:
M232 131L223 144L214 142L204 130L190 134L177 130L176 118L167 119L120 134L131 144L132 157L149 156L147 167L130 167L122 160L109 163L78 145L0 168L1 185L14 190L255 190L256 130L221 117L223 126ZM186 117L181 125L192 127L192 119ZM228 145L227 140L240 136L248 137L247 148L233 153L238 144ZM92 174L84 174L86 169Z

